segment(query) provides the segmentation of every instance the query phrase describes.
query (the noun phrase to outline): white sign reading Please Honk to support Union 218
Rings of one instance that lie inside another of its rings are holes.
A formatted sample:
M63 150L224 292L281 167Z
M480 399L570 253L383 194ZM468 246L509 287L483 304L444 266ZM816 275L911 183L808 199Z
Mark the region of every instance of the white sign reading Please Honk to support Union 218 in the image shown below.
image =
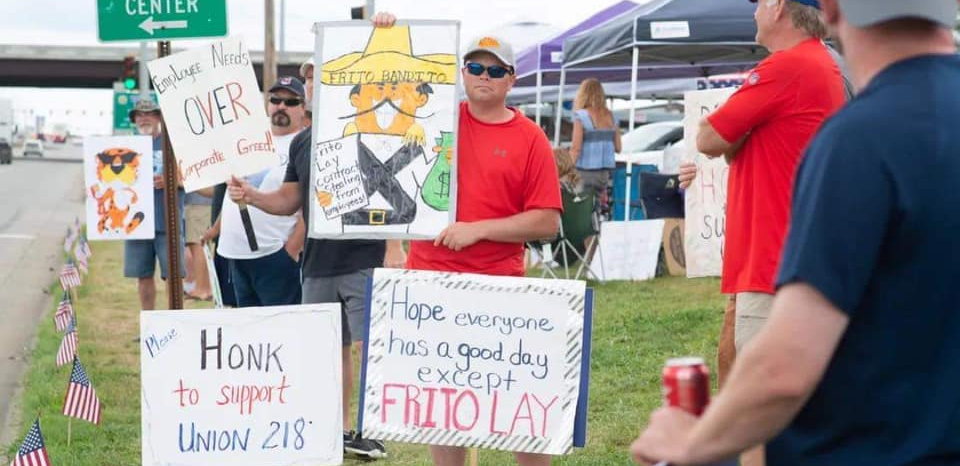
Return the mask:
M341 464L340 337L339 304L141 312L141 464Z

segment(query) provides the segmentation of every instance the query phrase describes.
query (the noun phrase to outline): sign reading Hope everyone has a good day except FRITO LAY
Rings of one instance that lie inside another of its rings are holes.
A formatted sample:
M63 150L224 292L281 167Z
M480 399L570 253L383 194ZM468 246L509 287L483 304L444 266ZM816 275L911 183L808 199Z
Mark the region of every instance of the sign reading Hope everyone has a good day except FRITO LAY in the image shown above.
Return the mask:
M371 290L364 437L564 454L579 425L582 441L584 282L376 269Z

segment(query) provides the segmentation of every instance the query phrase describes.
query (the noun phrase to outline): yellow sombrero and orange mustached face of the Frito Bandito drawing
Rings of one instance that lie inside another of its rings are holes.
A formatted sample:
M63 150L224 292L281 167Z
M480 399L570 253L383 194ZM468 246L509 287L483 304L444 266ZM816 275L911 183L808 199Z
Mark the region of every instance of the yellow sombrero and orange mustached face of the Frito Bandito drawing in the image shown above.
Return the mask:
M454 85L457 57L453 54L414 55L409 26L373 28L363 52L353 52L323 64L320 82L353 86L350 104L356 113L343 135L392 134L403 142L426 144L417 110L427 104L433 85Z

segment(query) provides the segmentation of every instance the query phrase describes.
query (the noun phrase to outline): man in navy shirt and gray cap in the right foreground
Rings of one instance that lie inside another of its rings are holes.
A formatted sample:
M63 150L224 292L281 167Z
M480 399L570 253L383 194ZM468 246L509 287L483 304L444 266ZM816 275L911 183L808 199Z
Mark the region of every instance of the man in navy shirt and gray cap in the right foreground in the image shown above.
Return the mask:
M638 462L960 464L956 0L820 0L859 95L797 173L770 320L701 419L654 412Z

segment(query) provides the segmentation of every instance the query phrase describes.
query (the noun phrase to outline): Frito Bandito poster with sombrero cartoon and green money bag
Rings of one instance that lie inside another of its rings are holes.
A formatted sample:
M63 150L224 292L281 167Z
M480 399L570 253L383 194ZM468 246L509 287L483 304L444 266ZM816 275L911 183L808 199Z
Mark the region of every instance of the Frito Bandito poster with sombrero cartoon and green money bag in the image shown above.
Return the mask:
M433 238L456 218L459 22L314 25L313 238Z

